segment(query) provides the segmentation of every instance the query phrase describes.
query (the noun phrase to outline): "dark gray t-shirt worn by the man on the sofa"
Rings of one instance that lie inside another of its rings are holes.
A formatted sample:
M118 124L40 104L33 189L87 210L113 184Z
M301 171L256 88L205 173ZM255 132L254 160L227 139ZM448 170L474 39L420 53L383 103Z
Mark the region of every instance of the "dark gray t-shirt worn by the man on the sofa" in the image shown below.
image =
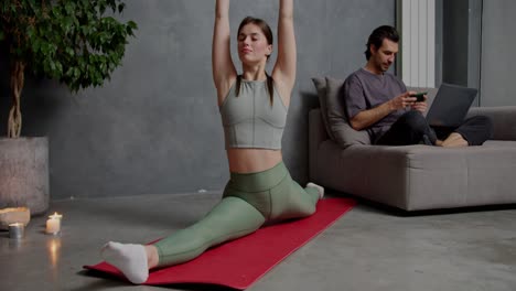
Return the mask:
M394 97L407 91L405 84L395 75L384 73L373 74L364 68L351 74L344 82L343 97L346 105L347 119L363 110L375 108ZM379 138L406 110L397 110L386 116L368 128L373 140Z

